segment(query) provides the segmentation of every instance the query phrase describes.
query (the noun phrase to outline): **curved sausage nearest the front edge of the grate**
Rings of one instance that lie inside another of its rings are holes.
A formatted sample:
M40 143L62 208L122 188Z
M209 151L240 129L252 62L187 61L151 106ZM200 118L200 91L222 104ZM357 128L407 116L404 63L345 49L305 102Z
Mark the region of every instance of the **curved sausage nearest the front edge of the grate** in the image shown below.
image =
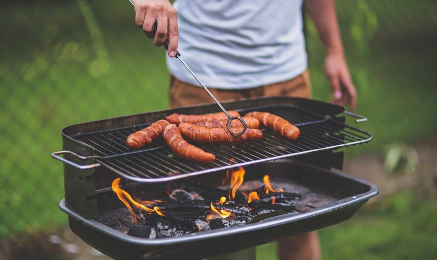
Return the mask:
M210 163L216 159L215 155L185 141L175 124L169 124L165 127L164 140L171 151L181 158L202 163Z

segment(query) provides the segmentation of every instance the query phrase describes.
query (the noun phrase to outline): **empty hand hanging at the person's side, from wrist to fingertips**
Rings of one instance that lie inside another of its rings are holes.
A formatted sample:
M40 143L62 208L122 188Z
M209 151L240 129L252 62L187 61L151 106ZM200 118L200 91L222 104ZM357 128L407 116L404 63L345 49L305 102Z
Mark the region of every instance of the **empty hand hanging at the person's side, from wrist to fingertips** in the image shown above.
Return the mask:
M354 111L356 90L344 56L328 54L325 60L325 72L331 83L331 102L338 105L349 104L350 110Z

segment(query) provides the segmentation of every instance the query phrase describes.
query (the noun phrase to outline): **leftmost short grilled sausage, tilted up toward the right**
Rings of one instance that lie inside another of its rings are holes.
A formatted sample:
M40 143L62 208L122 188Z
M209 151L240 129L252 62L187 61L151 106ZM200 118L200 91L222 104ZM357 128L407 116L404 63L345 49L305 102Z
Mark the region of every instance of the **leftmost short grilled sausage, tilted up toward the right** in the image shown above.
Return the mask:
M168 124L166 120L156 121L145 129L130 134L126 138L126 145L133 150L139 150L141 147L151 144L153 140L162 136L164 128Z

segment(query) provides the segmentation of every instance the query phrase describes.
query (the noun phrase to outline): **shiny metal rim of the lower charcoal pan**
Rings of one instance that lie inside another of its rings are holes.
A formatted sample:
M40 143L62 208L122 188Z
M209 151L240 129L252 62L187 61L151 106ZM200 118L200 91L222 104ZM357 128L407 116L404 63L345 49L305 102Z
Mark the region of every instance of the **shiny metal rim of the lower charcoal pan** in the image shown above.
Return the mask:
M270 163L281 163L281 162L270 162ZM283 163L283 162L282 162ZM105 226L104 224L93 220L93 219L87 219L83 217L80 213L76 212L74 209L69 208L66 203L65 199L62 199L59 202L59 209L66 214L68 214L70 217L73 217L74 219L82 222L88 227L93 228L94 230L97 230L103 234L109 235L112 238L115 238L122 242L127 242L135 245L142 245L142 246L164 246L164 245L174 245L177 243L184 243L184 242L195 242L202 239L210 239L210 238L218 238L223 236L230 236L233 234L241 234L244 232L251 232L251 231L257 231L267 228L272 228L275 226L280 226L283 224L291 223L291 222L297 222L303 219L307 218L314 218L329 212L338 211L345 209L349 206L356 205L358 203L365 203L370 198L375 197L379 193L379 188L377 185L375 185L372 182L365 181L363 179L359 179L350 175L347 175L343 172L336 171L336 170L327 170L318 166L314 166L311 164L305 164L306 167L312 168L314 170L324 171L325 173L332 174L336 177L341 177L348 179L350 181L358 182L360 184L366 185L369 187L369 190L367 192L357 194L354 196L350 196L348 198L344 198L338 201L335 201L333 203L330 203L328 205L325 205L320 208L316 208L314 210L298 213L298 212L292 212L292 213L286 213L279 216L270 217L264 220L261 220L257 223L252 223L244 226L236 226L231 227L227 229L218 229L218 230L212 230L212 231L204 231L204 232L197 232L197 233L191 233L188 235L183 236L176 236L176 237L167 237L167 238L156 238L156 239L147 239L147 238L139 238L134 237L130 235L126 235L120 231L114 230L108 226Z

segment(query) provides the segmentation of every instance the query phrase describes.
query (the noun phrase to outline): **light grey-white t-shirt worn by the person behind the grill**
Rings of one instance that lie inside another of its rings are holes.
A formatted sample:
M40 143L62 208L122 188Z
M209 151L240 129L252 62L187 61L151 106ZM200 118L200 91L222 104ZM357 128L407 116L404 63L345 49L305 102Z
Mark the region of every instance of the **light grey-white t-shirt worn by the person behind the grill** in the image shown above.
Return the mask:
M302 0L177 0L184 61L207 87L253 88L295 78L307 68ZM167 56L170 73L198 86Z

